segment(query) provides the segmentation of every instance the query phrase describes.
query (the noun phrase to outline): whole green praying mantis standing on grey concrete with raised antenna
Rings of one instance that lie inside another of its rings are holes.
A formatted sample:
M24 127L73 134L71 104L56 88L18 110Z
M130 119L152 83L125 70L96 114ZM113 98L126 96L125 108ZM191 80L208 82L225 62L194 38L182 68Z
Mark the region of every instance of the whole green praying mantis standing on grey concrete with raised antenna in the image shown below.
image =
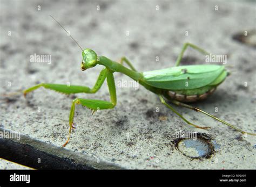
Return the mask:
M52 17L52 16L51 16ZM53 17L52 17L53 18ZM68 34L69 32L55 19L53 18ZM70 35L70 34L69 34ZM73 37L70 35L73 39ZM170 104L166 102L166 99L171 103L186 107L187 109L191 109L197 112L201 112L210 116L211 118L220 121L223 124L234 128L235 130L245 134L247 132L242 131L241 129L227 123L224 120L221 120L210 113L207 113L198 107L193 107L191 105L185 104L188 102L196 102L198 100L206 99L208 95L214 92L214 90L221 84L228 75L228 71L224 66L213 65L213 64L201 64L201 65L191 65L191 66L180 66L180 61L183 57L184 52L187 47L199 51L203 54L209 54L204 49L199 48L196 45L185 43L179 56L176 61L175 67L139 72L133 66L132 63L127 60L126 57L122 57L120 63L115 62L113 60L108 59L105 56L98 56L92 49L82 49L78 42L76 42L78 47L82 50L83 60L81 63L82 71L86 69L90 69L95 67L97 64L104 66L103 70L100 71L98 79L93 88L84 87L80 85L64 85L64 84L48 84L41 83L35 85L29 89L23 91L24 96L27 93L36 90L40 87L44 87L46 89L55 90L65 94L71 93L96 93L104 81L107 81L107 85L109 87L110 93L110 102L105 100L98 99L84 99L84 98L76 98L72 101L70 116L69 116L69 135L68 140L64 143L63 147L67 145L70 140L71 130L75 128L73 124L74 112L76 105L82 105L93 112L96 110L105 110L105 109L113 109L117 104L117 96L116 96L116 86L114 83L114 72L119 72L131 77L134 81L137 81L140 85L145 87L147 90L156 93L158 95L161 103L171 109L174 113L176 113L181 119L183 119L188 125L191 125L196 128L210 128L210 127L201 127L198 125L192 124L190 121L185 119L180 113L178 113ZM126 63L129 68L123 66ZM247 133L250 135L256 135L254 133Z

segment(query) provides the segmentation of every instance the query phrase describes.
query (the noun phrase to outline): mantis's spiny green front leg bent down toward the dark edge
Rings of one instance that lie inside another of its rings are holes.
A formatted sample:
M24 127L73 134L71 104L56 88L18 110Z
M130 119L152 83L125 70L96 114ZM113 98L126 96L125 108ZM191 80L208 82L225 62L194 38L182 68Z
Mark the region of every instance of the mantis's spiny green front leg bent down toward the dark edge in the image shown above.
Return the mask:
M69 136L68 136L68 140L64 143L63 147L65 147L70 140L76 104L80 104L82 106L87 107L88 109L91 109L93 113L97 110L112 109L114 106L116 106L116 103L117 103L116 86L114 84L113 74L109 70L107 70L106 78L107 78L107 85L109 87L111 102L107 102L105 100L97 100L97 99L82 99L82 98L74 99L71 105L70 116L69 116L69 126L70 126Z

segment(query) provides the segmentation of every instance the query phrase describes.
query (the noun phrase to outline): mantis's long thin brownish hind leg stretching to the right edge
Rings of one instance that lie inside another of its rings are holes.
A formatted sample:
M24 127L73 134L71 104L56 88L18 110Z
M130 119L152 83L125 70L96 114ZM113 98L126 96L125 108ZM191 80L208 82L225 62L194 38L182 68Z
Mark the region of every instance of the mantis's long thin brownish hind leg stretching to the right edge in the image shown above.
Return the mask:
M205 112L205 111L199 109L198 107L193 107L193 106L191 106L191 105L187 105L187 104L184 104L184 103L180 103L178 100L171 100L171 102L174 103L174 104L176 104L176 105L178 105L178 106L183 106L183 107L186 107L187 109L191 109L191 110L194 110L194 111L197 111L197 112L204 113L204 114L206 114L207 116L210 116L211 118L213 118L213 119L215 119L215 120L218 120L218 121L220 121L221 123L223 123L223 124L225 124L225 125L227 125L227 126L230 126L231 128L234 128L235 130L241 132L242 134L245 134L245 133L246 133L246 134L250 134L250 135L256 135L255 133L248 133L248 132L242 131L242 130L240 130L240 128L237 128L237 127L235 127L235 126L233 126L233 125L227 123L226 121L224 121L224 120L222 120L222 119L219 119L219 118L213 116L212 114L207 113L207 112Z

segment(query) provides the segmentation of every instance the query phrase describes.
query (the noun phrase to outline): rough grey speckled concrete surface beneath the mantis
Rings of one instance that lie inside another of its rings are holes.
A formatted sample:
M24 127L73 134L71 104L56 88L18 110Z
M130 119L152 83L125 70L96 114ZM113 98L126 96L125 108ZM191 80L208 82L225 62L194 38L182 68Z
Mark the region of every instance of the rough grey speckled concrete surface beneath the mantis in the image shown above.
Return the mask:
M52 15L83 48L112 60L125 55L140 71L173 66L184 42L213 54L227 54L227 64L233 66L228 69L235 72L210 98L194 105L255 133L255 47L234 37L244 31L253 33L255 11L255 3L237 1L1 0L0 93L38 83L94 85L102 67L80 70L80 49ZM35 53L51 55L51 63L30 62ZM201 63L206 63L204 55L188 49L183 64ZM117 82L131 80L119 73L114 77ZM190 127L143 87L117 88L117 106L93 116L77 106L77 128L66 148L59 148L68 135L70 106L76 97L109 100L109 93L104 83L95 95L67 97L40 88L27 98L1 96L2 131L21 133L21 140L10 141L98 169L256 168L255 137L176 107L194 124L212 128ZM198 142L181 141L176 136L180 130L202 134Z

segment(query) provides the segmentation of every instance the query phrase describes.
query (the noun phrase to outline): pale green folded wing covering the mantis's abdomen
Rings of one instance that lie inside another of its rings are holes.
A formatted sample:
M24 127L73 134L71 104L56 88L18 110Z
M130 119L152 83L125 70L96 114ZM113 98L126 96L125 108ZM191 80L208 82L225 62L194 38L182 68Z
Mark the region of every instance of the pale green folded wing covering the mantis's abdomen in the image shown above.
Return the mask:
M226 78L227 71L219 65L192 65L145 71L143 76L146 84L156 88L188 90L218 85Z

